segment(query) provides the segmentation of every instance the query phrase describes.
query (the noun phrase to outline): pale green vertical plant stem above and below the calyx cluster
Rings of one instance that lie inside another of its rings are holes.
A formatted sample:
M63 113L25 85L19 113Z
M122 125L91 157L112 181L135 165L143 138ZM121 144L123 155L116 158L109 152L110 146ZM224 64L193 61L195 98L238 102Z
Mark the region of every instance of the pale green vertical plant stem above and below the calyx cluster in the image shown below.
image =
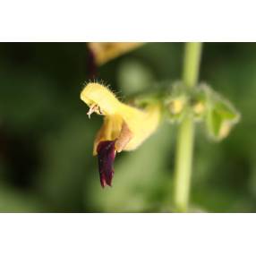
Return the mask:
M187 87L197 84L201 62L201 43L186 43L183 63L183 83ZM180 124L175 156L175 209L188 209L193 153L194 124L187 115Z

